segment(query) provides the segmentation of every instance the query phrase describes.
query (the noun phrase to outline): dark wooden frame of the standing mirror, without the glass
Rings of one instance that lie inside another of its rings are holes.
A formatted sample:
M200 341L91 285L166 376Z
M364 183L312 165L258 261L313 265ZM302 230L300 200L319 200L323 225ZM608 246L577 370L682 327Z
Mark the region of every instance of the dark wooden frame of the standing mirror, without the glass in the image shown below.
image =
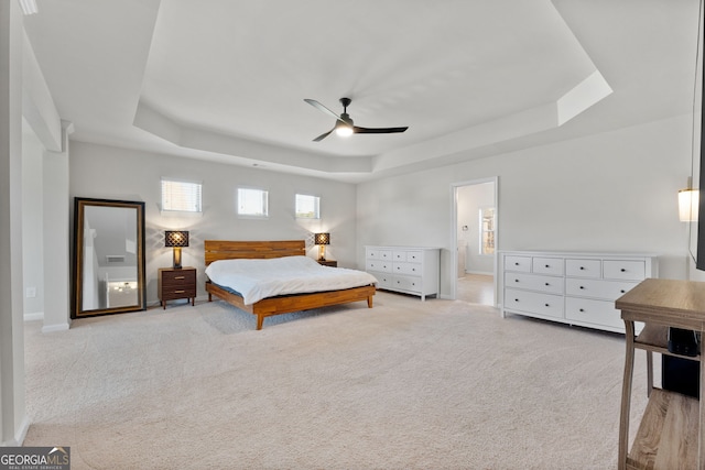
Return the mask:
M138 303L113 308L83 309L84 284L84 218L86 207L121 207L135 209L137 217L137 281ZM133 200L94 199L87 197L74 198L74 288L72 298L72 318L93 317L96 315L122 314L147 309L147 288L144 280L144 203Z

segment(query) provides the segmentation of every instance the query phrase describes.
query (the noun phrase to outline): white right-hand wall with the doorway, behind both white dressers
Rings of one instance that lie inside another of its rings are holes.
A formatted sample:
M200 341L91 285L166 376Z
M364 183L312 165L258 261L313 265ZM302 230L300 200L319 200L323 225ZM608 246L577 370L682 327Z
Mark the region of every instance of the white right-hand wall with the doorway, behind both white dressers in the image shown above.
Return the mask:
M653 252L660 277L686 277L677 190L691 174L687 116L474 160L358 186L365 244L443 247L452 292L453 183L499 177L500 250Z

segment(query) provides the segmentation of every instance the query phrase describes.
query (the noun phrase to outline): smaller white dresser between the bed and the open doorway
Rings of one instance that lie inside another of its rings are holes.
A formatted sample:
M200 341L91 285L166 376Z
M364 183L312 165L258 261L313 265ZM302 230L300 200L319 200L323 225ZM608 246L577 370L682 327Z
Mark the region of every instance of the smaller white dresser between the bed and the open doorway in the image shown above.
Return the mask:
M365 247L365 270L377 288L421 296L438 296L441 249L427 247Z

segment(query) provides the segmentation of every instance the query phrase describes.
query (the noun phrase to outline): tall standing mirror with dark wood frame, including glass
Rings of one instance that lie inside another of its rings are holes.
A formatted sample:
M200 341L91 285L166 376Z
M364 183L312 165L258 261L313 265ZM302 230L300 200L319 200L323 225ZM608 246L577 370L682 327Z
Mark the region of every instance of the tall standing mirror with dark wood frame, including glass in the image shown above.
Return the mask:
M144 203L74 200L72 318L147 308Z

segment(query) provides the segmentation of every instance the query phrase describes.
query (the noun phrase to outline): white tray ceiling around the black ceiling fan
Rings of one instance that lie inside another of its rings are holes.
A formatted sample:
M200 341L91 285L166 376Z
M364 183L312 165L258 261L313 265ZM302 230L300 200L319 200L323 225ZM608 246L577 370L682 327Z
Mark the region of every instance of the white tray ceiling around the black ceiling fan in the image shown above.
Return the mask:
M699 0L37 0L73 140L359 182L692 111ZM349 97L357 125L332 134Z

